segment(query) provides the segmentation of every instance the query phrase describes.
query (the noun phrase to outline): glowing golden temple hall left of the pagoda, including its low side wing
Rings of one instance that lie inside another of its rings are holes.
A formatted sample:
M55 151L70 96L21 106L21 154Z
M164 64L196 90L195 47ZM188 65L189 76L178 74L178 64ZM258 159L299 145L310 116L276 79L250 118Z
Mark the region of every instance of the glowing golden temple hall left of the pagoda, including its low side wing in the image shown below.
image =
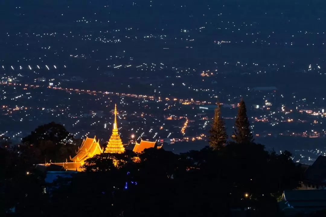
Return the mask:
M82 171L81 166L84 164L85 160L101 153L103 153L103 148L101 148L99 140L96 141L96 137L86 137L86 139L82 141L81 147L78 147L76 156L73 158L70 157L72 162L52 163L50 161L50 163L39 164L39 166L53 167L56 165L63 167L65 170Z

